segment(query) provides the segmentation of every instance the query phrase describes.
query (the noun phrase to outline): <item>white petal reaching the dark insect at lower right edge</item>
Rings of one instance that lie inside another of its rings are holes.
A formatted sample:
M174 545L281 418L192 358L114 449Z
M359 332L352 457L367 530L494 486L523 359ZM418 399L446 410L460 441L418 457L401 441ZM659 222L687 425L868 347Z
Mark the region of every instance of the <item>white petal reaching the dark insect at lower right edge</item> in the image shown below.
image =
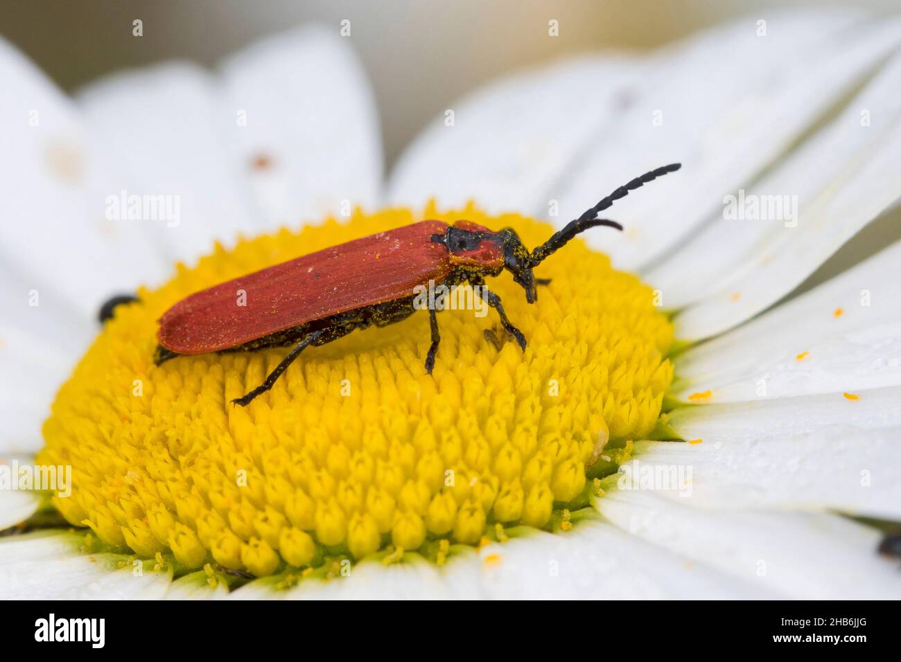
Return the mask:
M616 526L786 597L894 598L897 564L878 531L838 515L692 508L659 494L611 489L596 508Z

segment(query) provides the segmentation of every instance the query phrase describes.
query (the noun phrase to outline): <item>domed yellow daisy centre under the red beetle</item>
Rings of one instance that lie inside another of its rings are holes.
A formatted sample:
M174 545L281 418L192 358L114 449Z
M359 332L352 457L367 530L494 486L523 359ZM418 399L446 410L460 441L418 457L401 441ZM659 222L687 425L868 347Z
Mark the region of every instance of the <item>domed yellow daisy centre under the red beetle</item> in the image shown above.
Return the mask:
M472 207L425 217L513 227L528 246L552 232ZM287 349L153 364L157 320L183 297L416 220L387 210L216 246L117 308L43 428L38 460L73 471L59 512L141 557L254 576L411 550L443 562L528 527L568 530L591 479L654 429L672 379L672 328L651 289L581 240L538 269L551 284L536 304L507 274L489 283L524 353L494 311L442 311L427 375L429 320L417 313L307 349L247 408L230 401Z

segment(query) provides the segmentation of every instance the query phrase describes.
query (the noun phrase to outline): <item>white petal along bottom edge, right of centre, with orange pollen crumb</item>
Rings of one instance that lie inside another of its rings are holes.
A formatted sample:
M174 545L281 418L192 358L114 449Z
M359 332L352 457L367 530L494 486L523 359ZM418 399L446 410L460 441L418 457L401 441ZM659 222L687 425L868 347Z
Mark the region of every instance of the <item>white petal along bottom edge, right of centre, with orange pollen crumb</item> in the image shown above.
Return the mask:
M487 596L501 600L776 596L601 521L579 522L567 533L536 532L479 554Z

